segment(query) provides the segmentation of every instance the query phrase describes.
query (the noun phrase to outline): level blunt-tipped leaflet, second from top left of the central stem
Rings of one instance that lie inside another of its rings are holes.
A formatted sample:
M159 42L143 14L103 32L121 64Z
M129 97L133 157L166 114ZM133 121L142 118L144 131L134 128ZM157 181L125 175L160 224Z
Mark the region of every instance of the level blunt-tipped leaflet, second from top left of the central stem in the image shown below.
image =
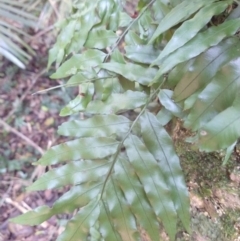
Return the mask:
M124 116L96 115L85 120L73 120L62 124L58 134L75 137L111 136L117 132L127 133L131 121Z

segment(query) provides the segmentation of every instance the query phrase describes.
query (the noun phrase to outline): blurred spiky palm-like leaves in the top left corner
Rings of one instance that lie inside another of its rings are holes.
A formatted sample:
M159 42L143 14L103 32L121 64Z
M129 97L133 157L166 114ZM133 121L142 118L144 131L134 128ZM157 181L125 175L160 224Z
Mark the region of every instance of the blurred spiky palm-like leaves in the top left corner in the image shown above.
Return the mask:
M35 55L31 32L51 30L69 9L67 0L0 0L0 54L25 69Z

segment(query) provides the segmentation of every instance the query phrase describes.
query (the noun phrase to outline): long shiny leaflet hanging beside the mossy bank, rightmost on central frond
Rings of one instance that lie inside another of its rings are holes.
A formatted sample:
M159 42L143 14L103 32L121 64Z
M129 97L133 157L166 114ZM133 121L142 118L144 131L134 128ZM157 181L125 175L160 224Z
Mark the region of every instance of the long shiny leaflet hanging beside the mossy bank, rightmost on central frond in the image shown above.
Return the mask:
M171 137L153 114L145 113L140 121L144 143L159 162L165 181L170 187L176 211L188 230L190 222L188 191Z

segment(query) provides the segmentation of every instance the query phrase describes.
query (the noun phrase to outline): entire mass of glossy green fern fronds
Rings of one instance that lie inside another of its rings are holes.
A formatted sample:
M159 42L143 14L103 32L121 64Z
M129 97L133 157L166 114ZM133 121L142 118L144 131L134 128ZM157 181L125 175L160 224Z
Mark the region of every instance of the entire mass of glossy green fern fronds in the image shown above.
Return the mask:
M140 0L138 9L130 16L117 0L74 1L59 25L48 67L57 66L51 78L79 88L60 115L80 114L59 126L71 140L40 158L36 164L54 168L28 191L71 189L13 221L38 225L74 213L58 241L135 241L141 231L159 241L160 224L170 240L180 226L190 232L188 189L167 124L181 119L194 134L188 141L229 159L240 136L238 1ZM217 188L225 176L221 163L210 172L213 156L199 155L199 192L210 197L208 180Z

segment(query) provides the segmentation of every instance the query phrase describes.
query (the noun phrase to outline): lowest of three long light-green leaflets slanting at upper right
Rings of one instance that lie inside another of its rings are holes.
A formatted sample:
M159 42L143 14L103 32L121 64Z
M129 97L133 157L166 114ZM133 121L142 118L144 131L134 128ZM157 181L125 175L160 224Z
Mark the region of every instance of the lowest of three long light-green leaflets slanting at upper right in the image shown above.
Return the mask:
M160 70L153 79L152 83L158 81L159 77L167 73L177 64L187 61L198 56L211 46L220 43L224 38L232 36L240 27L239 19L226 21L216 27L211 27L204 32L199 33L191 39L186 45L177 49L166 57L161 65Z

